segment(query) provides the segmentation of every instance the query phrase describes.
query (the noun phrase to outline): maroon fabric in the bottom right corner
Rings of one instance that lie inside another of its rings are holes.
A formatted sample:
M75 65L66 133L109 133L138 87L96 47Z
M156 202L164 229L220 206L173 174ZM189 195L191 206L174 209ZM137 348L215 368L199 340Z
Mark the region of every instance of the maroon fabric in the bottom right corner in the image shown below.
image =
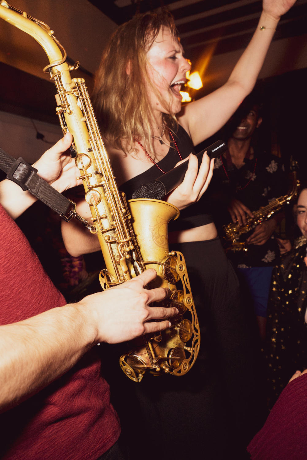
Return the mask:
M247 450L252 460L307 459L307 374L284 388Z

